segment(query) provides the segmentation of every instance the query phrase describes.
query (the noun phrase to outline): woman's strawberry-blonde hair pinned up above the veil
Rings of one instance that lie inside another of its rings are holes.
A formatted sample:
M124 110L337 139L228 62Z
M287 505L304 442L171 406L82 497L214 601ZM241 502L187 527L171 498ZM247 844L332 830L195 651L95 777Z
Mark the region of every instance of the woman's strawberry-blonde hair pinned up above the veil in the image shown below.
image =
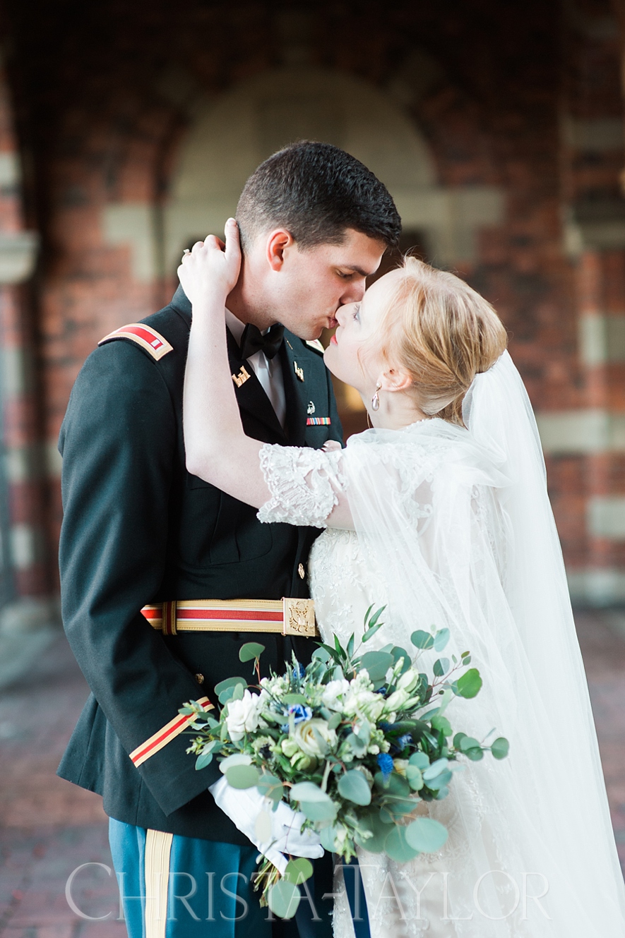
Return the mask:
M464 426L465 394L504 352L506 330L459 277L415 257L404 257L400 271L382 318L383 355L410 373L408 393L424 414Z

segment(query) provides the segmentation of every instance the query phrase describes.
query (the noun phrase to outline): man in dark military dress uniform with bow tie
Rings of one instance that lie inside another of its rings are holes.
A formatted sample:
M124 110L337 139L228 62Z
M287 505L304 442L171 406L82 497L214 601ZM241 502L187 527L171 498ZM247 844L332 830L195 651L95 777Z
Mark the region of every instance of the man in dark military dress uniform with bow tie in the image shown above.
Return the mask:
M226 317L244 429L282 446L340 441L318 338L397 242L389 192L343 150L302 142L258 167L236 219L243 265ZM264 603L308 596L318 533L261 524L254 508L187 472L190 325L178 288L163 310L101 340L71 393L59 442L61 593L92 694L58 774L103 796L130 938L199 938L206 928L326 938L329 858L316 861L296 921L267 918L252 891L254 812L236 793L218 807L208 788L219 764L197 772L185 751L178 709L218 703L215 685L249 667L242 643L265 645L265 673L282 673L293 652L310 660L313 634L284 635L287 613L267 624ZM297 834L286 849L315 855Z

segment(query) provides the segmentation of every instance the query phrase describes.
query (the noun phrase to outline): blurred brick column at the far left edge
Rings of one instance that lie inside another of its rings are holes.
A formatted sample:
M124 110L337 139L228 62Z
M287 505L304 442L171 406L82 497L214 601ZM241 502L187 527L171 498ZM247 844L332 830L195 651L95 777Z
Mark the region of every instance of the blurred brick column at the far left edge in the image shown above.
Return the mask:
M46 567L43 453L38 430L34 336L23 283L38 235L24 230L21 162L8 83L0 68L0 630L38 628L53 617Z

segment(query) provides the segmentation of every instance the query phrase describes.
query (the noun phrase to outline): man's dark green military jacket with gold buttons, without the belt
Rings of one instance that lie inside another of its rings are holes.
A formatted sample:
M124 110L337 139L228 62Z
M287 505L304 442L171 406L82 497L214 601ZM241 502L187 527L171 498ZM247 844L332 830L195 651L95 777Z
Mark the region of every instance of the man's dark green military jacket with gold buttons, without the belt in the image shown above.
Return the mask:
M251 665L238 660L242 643L262 641L262 670L282 673L293 650L307 663L315 640L243 632L163 636L141 609L166 599L306 597L299 565L306 567L319 532L261 524L255 508L187 472L182 387L191 304L182 289L143 323L173 350L157 360L130 339L100 345L76 380L61 428L63 622L92 693L58 774L101 794L118 821L244 844L206 791L219 778L218 764L197 772L195 757L185 752L191 736L167 728L186 701L206 696L217 703L213 688L225 677L250 673L253 682ZM230 335L228 342L238 374L247 363ZM288 331L279 356L285 430L247 365L251 376L236 389L246 433L283 446L341 440L323 357ZM312 406L329 425L307 425ZM163 733L166 744L135 765L130 753Z

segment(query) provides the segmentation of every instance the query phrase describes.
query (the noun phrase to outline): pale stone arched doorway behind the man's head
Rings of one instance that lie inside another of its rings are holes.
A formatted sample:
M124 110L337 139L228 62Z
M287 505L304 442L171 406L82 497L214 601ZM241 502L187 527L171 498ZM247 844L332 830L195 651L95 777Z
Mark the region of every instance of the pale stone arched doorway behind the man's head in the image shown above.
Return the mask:
M324 68L276 68L196 108L164 206L165 269L174 271L194 240L220 234L256 166L301 139L341 146L373 170L402 216L402 250L415 249L439 265L470 260L475 229L501 214L493 189L437 183L424 135L373 84ZM358 394L339 384L337 397L346 435L361 430Z

